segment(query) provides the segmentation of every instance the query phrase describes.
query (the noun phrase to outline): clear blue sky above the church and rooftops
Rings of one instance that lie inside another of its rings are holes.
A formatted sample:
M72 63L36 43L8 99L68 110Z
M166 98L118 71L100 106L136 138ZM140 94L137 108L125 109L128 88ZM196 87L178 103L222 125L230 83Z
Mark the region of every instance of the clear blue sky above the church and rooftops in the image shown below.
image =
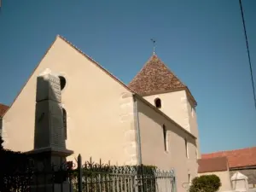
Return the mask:
M256 75L256 1L242 1ZM238 0L3 0L0 102L11 104L61 34L126 84L156 53L198 102L201 152L256 146Z

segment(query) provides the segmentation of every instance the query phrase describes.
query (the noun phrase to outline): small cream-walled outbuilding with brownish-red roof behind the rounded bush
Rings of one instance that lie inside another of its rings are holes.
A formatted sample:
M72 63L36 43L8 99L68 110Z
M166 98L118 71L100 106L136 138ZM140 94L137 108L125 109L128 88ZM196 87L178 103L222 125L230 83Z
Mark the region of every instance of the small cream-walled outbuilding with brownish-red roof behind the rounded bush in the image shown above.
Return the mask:
M232 189L230 181L230 170L226 157L215 157L198 160L198 176L215 174L222 183L219 191L229 191Z

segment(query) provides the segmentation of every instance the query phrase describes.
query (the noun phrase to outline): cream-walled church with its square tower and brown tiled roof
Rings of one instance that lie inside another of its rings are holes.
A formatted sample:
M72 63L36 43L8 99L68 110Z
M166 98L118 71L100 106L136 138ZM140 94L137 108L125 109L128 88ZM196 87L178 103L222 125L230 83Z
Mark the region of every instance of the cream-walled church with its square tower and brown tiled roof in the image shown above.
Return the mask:
M83 160L175 168L177 190L197 176L201 157L195 98L152 55L129 85L57 36L3 116L4 147L33 148L36 82L49 68L61 79L67 148Z

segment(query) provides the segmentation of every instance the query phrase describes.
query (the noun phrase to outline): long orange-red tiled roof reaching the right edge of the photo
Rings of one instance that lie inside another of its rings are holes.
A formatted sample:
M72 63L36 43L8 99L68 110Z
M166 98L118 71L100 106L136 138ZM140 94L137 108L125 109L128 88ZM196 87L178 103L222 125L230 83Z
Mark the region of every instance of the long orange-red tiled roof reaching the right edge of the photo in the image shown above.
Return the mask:
M256 166L256 147L201 155L202 159L211 159L214 157L227 157L230 168Z

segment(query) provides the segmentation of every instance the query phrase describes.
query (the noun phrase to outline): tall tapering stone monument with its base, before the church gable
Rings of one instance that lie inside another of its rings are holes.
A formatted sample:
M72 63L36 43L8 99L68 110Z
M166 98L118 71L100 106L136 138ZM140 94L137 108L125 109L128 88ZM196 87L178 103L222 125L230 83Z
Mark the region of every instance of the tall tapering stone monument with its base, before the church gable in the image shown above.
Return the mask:
M66 158L73 151L66 148L63 114L61 105L60 79L43 73L37 79L36 117L34 148L31 154L36 170L52 172L60 170L66 164ZM32 191L71 192L67 177L61 180L53 178L54 174L38 174L34 179Z

